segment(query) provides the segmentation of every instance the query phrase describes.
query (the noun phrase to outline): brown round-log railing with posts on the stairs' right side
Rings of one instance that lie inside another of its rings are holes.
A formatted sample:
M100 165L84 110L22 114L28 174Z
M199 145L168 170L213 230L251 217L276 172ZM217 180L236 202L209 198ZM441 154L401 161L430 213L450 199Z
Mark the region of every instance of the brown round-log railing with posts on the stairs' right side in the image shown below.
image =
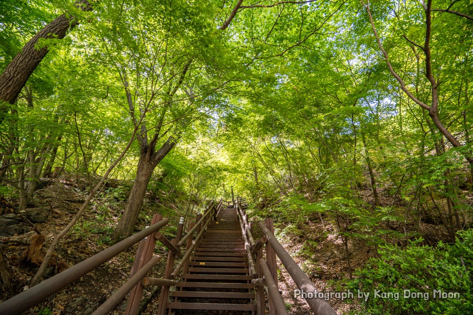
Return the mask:
M274 236L273 219L265 219L264 222L258 224L262 236L255 242L253 226L251 223L248 223L248 215L243 205L247 205L246 199L237 197L237 214L248 255L250 275L253 276L251 283L257 286L257 313L258 315L265 314L265 290L263 288L267 287L269 314L288 314L278 288L276 255L301 291L314 293L313 296L317 296L318 290ZM263 248L265 249L264 251ZM336 314L330 304L323 298L306 298L306 301L316 315Z

